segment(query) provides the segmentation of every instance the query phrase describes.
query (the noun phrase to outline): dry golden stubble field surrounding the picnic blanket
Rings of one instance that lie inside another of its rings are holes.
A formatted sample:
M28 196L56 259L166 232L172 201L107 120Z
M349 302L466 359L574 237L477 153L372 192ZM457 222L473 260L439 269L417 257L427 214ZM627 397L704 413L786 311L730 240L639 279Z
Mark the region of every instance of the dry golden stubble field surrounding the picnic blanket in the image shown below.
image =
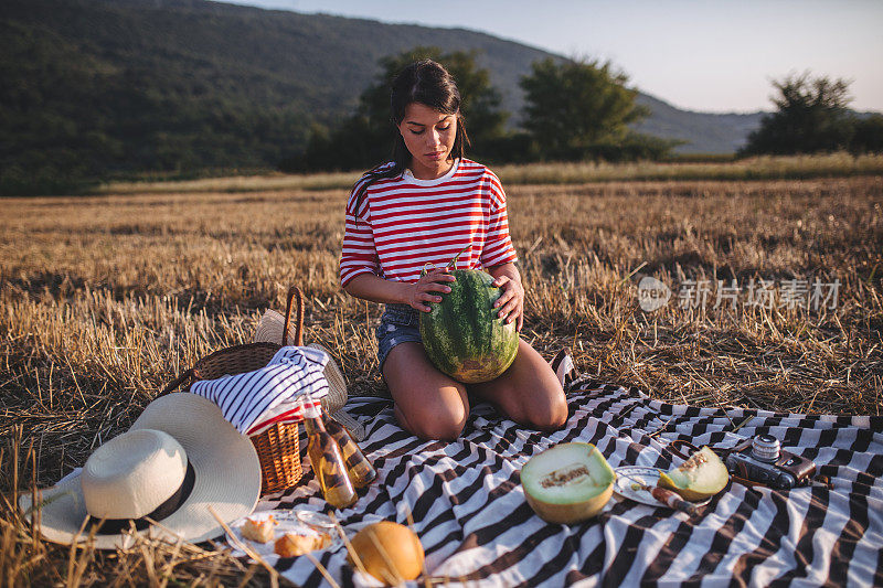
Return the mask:
M307 341L352 394L382 394L380 308L338 286L345 197L249 184L0 201L0 585L272 579L213 546L46 545L11 496L82 466L196 359L248 342L292 284ZM674 403L880 414L883 177L513 184L509 207L522 335L547 357L568 348L582 372ZM645 276L668 304L641 309Z

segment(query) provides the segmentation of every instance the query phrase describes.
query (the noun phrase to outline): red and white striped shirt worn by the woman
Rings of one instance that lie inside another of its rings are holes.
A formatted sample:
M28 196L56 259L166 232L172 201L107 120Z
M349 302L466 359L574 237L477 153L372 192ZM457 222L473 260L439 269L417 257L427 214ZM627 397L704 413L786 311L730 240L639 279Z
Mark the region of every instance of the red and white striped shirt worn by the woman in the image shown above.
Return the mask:
M517 259L506 193L485 165L461 159L435 180L418 180L405 170L371 184L355 210L355 192L347 203L341 285L368 272L413 284L424 267L446 266L467 245L457 269Z

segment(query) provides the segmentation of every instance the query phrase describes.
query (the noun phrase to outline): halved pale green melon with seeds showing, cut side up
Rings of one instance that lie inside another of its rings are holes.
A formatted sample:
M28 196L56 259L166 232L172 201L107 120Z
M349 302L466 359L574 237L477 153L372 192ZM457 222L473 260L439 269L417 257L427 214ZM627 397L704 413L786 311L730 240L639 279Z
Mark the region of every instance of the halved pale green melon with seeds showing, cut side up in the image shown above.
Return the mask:
M528 504L549 523L592 518L614 493L616 474L592 443L561 443L532 457L521 469Z

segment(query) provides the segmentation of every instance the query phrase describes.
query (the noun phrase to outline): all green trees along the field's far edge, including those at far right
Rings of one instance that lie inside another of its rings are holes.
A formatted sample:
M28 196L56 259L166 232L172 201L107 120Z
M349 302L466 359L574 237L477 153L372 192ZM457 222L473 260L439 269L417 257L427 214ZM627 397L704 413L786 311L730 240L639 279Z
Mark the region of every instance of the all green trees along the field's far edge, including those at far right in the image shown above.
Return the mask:
M408 63L433 58L451 72L464 96L461 110L471 153L494 163L532 161L660 160L678 141L630 129L650 113L637 105L638 92L610 63L543 60L521 78L525 108L521 128L507 130L509 113L476 54L416 47L381 61L381 74L361 95L357 113L329 129L315 125L304 152L280 163L288 172L353 170L389 157L395 128L390 119L389 88ZM797 154L883 151L883 115L860 116L849 109L849 82L809 73L773 83L776 110L762 119L737 153Z

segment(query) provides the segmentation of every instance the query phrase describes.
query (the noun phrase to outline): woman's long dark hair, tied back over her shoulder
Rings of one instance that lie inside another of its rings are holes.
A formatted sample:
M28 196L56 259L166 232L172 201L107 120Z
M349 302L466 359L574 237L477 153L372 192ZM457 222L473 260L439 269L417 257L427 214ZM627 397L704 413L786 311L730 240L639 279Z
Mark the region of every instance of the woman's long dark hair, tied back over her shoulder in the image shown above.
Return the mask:
M405 108L412 103L428 106L446 115L456 115L457 135L454 138L454 148L450 150L450 154L454 159L462 158L466 146L469 145L469 137L466 136L466 125L460 114L460 90L457 89L454 76L440 63L433 60L421 60L412 63L395 76L390 93L392 121L395 126L402 124L405 118ZM396 132L393 145L393 164L377 165L357 182L357 185L360 182L361 185L355 192L355 211L359 210L368 186L384 178L400 175L409 162L411 152L405 147L402 135Z

